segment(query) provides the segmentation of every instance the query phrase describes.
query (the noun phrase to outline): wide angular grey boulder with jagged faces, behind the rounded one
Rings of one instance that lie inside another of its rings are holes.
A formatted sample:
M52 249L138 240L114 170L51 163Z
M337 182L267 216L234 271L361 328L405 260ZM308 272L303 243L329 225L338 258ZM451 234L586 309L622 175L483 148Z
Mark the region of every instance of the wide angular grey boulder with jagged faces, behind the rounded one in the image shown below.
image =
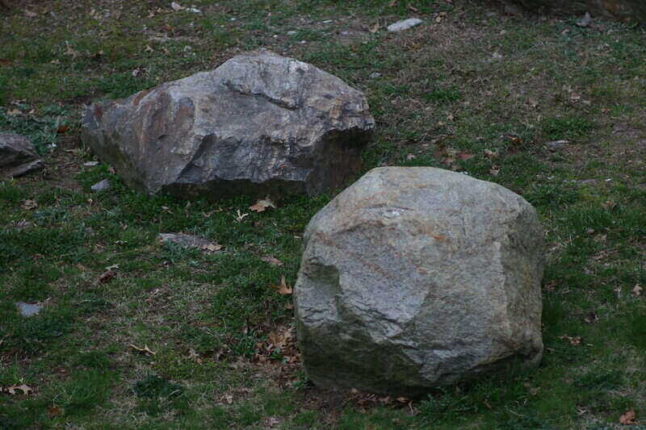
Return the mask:
M361 92L270 52L88 107L83 140L150 194L318 194L360 166L374 119Z

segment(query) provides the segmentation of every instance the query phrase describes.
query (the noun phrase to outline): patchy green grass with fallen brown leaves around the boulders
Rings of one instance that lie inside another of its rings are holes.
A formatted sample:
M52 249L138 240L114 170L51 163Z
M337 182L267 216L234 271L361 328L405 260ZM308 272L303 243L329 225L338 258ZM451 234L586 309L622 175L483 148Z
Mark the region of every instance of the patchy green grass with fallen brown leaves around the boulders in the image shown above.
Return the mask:
M55 0L0 17L0 130L30 136L48 164L0 182L0 387L32 389L0 393L0 428L609 429L631 409L644 425L642 29L458 1L192 3L201 14ZM410 15L425 24L385 32ZM537 370L410 404L318 390L293 346L268 345L293 323L273 286L295 281L303 229L331 196L254 213L244 197L144 196L83 165L84 103L259 47L366 93L378 129L365 169L460 170L536 206L549 242ZM112 189L91 192L101 179ZM224 252L164 246L160 232ZM24 318L17 301L44 308Z

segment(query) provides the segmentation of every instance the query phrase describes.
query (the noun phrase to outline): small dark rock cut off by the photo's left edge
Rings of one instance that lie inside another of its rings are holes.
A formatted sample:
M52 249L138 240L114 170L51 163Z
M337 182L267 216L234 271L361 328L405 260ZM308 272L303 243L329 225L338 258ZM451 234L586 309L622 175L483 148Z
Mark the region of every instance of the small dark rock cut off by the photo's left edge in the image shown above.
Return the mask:
M0 133L0 178L15 178L44 166L29 138Z

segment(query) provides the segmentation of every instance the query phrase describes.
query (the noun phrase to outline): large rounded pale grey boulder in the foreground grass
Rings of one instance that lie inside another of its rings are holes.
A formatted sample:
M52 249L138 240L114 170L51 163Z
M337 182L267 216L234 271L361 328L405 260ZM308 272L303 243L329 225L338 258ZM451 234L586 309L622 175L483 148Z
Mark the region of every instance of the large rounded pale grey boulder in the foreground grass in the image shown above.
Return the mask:
M371 170L312 218L294 288L310 378L416 396L542 356L543 231L508 189Z

